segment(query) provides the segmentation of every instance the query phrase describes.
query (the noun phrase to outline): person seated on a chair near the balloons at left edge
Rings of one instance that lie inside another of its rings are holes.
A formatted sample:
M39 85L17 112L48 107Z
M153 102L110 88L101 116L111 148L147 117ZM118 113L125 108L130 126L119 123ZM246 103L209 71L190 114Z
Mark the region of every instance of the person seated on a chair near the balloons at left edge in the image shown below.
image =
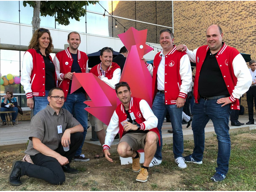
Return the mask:
M17 117L18 111L19 111L17 106L18 106L18 102L17 102L16 97L13 97L12 91L10 91L10 90L7 91L6 95L4 95L4 97L2 99L0 110L1 111L15 111L14 113L12 113L12 125L16 125L15 121L16 121L16 117ZM6 125L5 113L1 113L1 120L3 121L1 126Z

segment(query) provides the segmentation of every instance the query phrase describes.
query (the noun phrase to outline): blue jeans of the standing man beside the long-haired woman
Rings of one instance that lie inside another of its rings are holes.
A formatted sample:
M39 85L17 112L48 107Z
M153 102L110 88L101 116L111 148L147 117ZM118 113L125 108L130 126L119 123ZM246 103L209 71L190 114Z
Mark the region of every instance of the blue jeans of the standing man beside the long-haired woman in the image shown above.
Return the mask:
M84 108L87 107L87 105L84 104L84 101L86 101L86 96L84 93L68 93L67 99L62 107L72 113L73 117L75 117L76 120L78 120L78 122L83 126L83 142L76 151L75 156L81 155L84 139L87 133L88 112L84 110Z

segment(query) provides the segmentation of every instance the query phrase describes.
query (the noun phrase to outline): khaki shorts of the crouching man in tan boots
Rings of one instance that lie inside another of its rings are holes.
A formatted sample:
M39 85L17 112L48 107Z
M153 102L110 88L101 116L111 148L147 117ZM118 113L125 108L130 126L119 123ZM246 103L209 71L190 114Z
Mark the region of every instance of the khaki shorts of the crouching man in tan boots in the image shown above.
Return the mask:
M126 142L132 148L132 151L137 151L145 147L145 139L147 133L126 133L119 143ZM158 139L157 139L158 142ZM118 143L118 144L119 144ZM118 146L118 145L117 145Z

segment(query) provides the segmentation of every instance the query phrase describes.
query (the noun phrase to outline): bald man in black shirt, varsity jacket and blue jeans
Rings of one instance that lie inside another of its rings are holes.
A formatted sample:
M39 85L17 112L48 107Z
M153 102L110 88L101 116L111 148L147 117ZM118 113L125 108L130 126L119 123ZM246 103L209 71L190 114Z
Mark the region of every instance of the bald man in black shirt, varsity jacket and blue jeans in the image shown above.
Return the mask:
M221 27L211 25L206 30L207 45L193 51L185 45L177 46L196 63L192 120L195 147L185 162L203 163L204 128L211 119L218 139L217 167L211 177L215 182L223 181L229 170L231 109L240 109L239 98L252 84L244 58L237 49L222 42L222 37Z

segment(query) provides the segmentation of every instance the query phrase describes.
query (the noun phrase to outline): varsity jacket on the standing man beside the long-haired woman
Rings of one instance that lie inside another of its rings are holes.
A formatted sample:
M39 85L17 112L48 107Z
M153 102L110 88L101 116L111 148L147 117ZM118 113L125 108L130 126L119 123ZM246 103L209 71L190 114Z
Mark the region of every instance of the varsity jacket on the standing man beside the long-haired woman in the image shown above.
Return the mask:
M77 50L77 59L78 64L81 68L82 73L88 73L88 57L87 54ZM53 63L55 65L57 79L58 79L58 87L60 87L64 91L65 97L68 95L69 89L69 79L64 79L64 75L71 71L71 67L73 64L73 59L71 53L69 52L69 47L59 53L53 59Z

